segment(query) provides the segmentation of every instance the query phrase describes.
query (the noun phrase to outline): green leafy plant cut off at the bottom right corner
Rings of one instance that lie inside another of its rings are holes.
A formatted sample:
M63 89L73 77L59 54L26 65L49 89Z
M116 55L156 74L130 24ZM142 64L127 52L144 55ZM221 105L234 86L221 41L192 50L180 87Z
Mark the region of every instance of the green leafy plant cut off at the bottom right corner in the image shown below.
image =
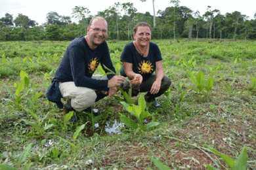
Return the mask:
M232 158L226 156L225 154L222 154L221 152L218 152L217 150L211 148L210 149L213 153L221 156L224 161L228 164L231 170L245 170L247 169L247 160L248 160L248 155L246 152L246 148L242 148L242 151L240 152L240 155L236 160L232 160ZM211 165L207 165L207 169L210 170L216 170L215 167Z

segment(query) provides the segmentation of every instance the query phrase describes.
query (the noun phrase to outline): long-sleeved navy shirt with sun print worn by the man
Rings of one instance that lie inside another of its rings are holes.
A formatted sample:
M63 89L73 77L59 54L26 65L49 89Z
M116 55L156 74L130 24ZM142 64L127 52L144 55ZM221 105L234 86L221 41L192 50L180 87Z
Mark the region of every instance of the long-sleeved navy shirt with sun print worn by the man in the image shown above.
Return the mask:
M54 79L57 82L74 81L75 86L108 91L108 80L91 78L99 63L116 73L110 59L110 52L106 41L95 50L91 50L85 37L78 37L68 45L60 65L56 69ZM104 69L104 67L102 68ZM113 76L108 75L108 79L111 79Z

